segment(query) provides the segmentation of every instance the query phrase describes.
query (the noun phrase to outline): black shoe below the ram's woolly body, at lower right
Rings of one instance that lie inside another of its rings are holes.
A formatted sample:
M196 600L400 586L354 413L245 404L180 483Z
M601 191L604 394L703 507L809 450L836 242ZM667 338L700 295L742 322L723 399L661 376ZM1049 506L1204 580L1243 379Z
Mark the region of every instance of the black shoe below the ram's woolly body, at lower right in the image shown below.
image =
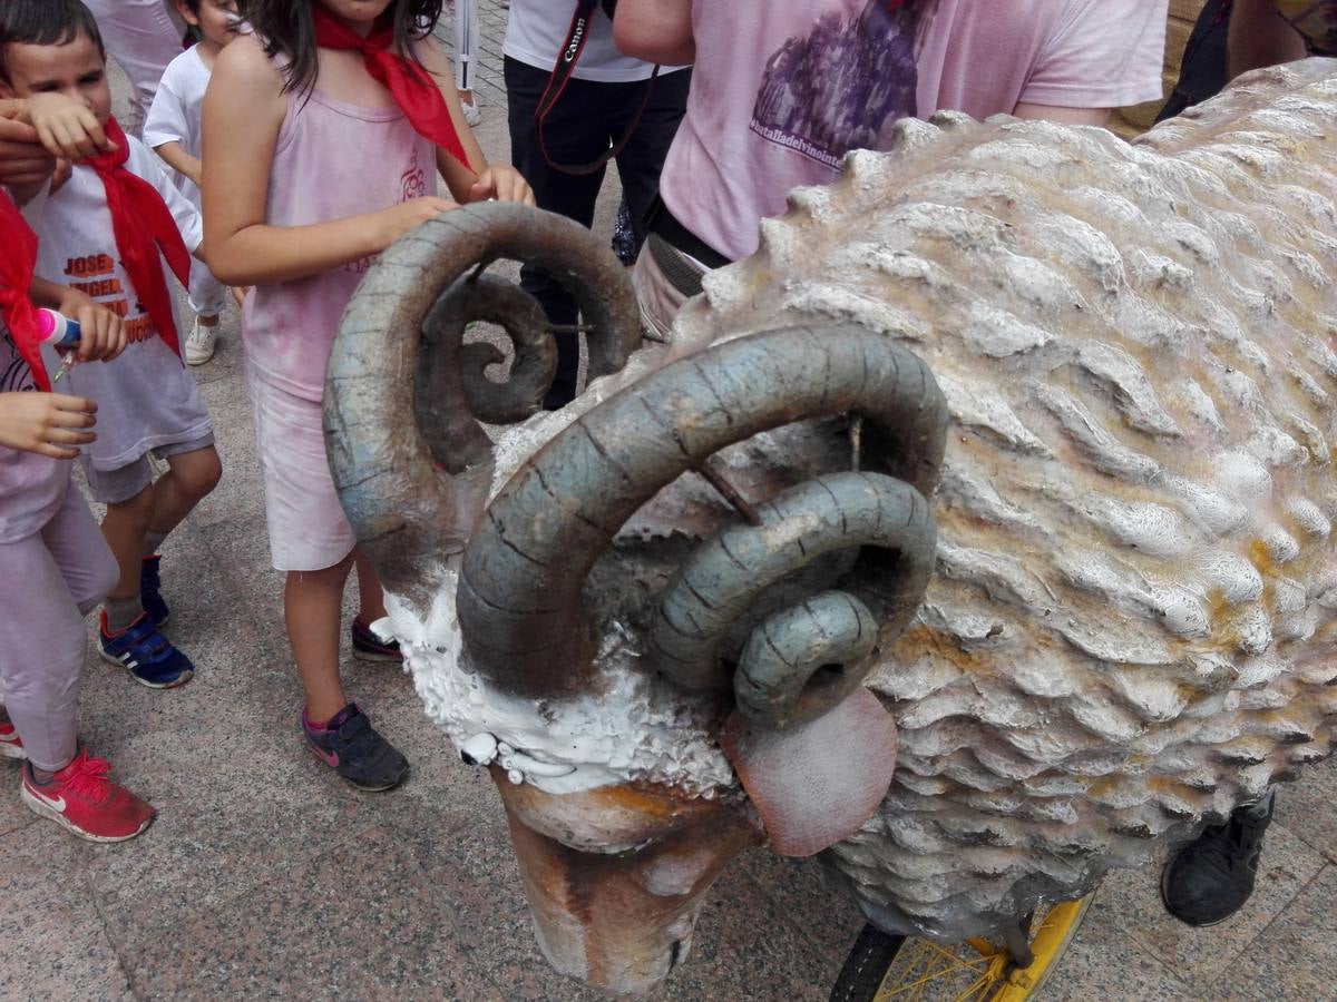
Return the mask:
M1190 842L1161 874L1166 911L1190 926L1214 926L1243 907L1253 894L1262 856L1262 836L1277 804L1239 807L1225 824L1214 824Z

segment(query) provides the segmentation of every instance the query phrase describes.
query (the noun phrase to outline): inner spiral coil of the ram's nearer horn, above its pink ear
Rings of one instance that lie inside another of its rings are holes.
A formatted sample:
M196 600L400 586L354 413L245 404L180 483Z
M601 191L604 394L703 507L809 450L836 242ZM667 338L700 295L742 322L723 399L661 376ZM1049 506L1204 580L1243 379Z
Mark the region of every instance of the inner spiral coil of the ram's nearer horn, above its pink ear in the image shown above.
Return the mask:
M837 473L783 492L761 525L727 525L664 589L650 632L651 664L691 689L733 684L738 708L771 727L806 723L849 696L894 640L933 573L937 533L924 496L880 473ZM762 592L834 549L862 546L850 577L876 615L846 592L824 592L755 625L733 677L721 669L729 628ZM894 550L894 561L882 558ZM881 621L881 629L876 625Z

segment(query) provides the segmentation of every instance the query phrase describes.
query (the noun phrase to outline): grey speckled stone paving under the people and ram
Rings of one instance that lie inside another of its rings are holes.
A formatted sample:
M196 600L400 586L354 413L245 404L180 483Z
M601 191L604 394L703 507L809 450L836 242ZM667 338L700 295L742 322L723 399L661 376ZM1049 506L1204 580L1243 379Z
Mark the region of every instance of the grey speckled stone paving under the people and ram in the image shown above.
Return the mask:
M507 150L504 17L484 4L479 131L492 156ZM604 232L615 204L610 186ZM226 473L164 561L171 633L199 675L163 693L88 663L83 736L159 820L130 844L90 846L0 798L0 999L596 998L540 957L496 792L427 723L405 676L344 665L413 760L401 790L354 792L303 751L239 365L229 315L217 359L197 370ZM0 786L16 794L17 776L0 762ZM1114 875L1044 997L1337 998L1337 767L1280 803L1241 915L1190 930L1161 908L1154 870ZM656 997L822 999L858 926L814 866L747 854Z

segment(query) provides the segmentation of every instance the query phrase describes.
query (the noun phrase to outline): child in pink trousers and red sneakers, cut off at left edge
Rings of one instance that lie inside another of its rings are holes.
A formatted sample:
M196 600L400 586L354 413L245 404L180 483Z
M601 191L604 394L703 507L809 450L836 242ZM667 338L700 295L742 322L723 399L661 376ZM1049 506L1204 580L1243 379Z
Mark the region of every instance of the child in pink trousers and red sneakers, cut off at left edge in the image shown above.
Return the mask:
M51 393L32 297L79 321L82 359L120 353L120 318L70 289L35 282L37 240L0 194L0 756L24 759L19 795L37 815L94 842L142 832L154 808L112 783L78 743L83 617L116 580L70 460L94 441L92 401ZM23 290L23 291L20 291ZM33 390L40 387L40 393ZM41 657L32 639L41 637Z

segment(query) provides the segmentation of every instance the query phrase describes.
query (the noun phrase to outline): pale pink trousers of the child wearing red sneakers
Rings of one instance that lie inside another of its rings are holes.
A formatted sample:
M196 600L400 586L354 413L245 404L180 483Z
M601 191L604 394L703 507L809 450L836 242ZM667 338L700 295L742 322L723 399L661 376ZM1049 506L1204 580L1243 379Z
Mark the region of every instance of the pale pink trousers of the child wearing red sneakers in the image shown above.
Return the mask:
M84 613L115 582L116 565L72 486L40 533L0 545L0 680L5 709L39 774L70 764L78 743ZM39 643L35 643L37 639Z

